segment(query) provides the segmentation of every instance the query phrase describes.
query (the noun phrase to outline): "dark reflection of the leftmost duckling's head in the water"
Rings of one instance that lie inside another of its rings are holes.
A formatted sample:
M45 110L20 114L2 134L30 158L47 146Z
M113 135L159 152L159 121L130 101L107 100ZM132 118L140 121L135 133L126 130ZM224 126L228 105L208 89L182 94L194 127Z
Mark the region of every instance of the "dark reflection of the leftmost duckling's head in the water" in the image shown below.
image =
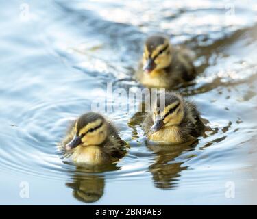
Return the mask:
M93 203L103 196L104 179L97 175L81 175L74 177L72 183L66 183L73 188L73 196L79 201Z

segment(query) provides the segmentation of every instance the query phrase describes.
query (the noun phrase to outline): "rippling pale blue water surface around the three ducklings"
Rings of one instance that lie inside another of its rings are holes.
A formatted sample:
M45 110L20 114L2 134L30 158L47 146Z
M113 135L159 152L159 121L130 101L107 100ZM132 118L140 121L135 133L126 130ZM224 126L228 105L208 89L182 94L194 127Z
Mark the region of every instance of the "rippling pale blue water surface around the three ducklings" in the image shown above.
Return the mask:
M0 5L0 204L257 203L256 1ZM158 31L195 52L199 75L180 92L199 105L205 135L147 146L141 116L123 107L108 114L130 143L119 164L92 173L63 162L56 144L95 88L141 88L132 74L145 36Z

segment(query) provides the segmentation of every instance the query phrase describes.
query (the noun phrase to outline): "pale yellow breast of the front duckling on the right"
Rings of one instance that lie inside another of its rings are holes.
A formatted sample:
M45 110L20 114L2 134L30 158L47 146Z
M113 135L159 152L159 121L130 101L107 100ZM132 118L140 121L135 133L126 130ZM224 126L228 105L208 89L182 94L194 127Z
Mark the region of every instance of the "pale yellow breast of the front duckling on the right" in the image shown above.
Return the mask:
M176 126L160 129L149 136L149 139L156 142L182 143L183 139L180 135L179 128Z

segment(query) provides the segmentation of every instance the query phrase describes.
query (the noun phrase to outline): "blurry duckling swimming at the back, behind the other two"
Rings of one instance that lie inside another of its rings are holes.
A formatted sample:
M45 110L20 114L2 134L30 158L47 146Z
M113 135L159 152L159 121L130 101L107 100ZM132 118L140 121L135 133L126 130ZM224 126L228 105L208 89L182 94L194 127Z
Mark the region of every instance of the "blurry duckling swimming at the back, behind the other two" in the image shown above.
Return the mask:
M147 38L136 79L149 88L171 89L196 76L188 49L175 48L169 38L156 34Z

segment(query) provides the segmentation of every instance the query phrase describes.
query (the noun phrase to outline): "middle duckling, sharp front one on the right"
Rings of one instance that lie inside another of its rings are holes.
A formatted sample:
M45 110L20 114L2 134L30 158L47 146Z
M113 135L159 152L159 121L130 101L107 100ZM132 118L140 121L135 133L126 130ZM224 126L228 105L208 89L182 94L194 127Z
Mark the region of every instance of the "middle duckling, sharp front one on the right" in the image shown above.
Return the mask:
M178 93L165 92L158 95L143 130L151 141L180 144L201 136L204 123L195 104Z

